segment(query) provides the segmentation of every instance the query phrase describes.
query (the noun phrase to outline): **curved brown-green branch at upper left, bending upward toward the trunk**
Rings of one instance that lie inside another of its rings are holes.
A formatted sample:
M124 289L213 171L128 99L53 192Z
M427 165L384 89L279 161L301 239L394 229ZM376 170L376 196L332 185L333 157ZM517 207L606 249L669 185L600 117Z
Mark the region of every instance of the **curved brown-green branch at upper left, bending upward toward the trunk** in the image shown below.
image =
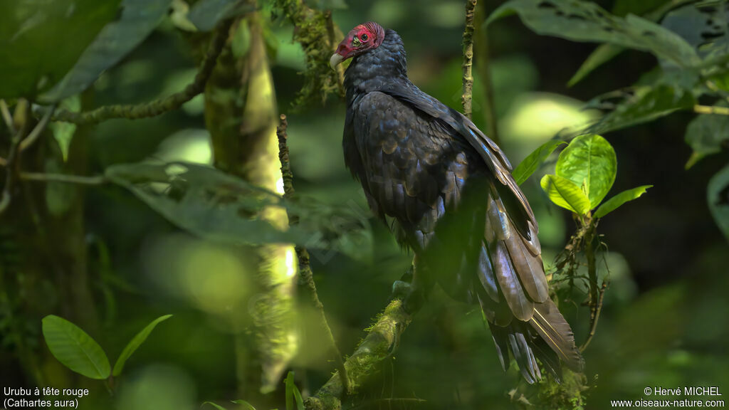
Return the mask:
M205 90L206 82L208 82L208 78L210 78L213 72L218 56L225 46L232 23L233 19L227 19L220 23L208 45L208 50L205 53L205 57L203 57L200 71L195 75L195 80L179 93L174 93L166 98L160 98L144 104L111 105L99 107L89 112L69 112L63 110L57 112L52 117L52 120L75 124L93 124L112 118L136 120L145 117L155 117L165 112L178 109L182 104L195 98L195 96L198 96L198 94Z

